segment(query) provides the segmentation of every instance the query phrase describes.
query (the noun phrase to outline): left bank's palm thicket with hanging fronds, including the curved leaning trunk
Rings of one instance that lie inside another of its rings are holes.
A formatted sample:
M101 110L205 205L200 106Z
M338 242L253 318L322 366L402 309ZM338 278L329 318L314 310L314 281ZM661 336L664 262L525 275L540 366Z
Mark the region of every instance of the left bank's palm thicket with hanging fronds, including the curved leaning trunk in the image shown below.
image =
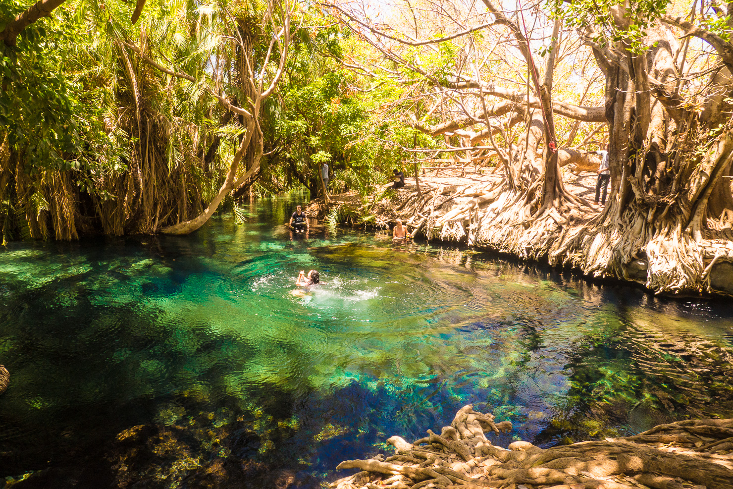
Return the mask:
M260 163L283 149L297 6L2 0L3 240L188 234L256 182L283 190L290 168Z

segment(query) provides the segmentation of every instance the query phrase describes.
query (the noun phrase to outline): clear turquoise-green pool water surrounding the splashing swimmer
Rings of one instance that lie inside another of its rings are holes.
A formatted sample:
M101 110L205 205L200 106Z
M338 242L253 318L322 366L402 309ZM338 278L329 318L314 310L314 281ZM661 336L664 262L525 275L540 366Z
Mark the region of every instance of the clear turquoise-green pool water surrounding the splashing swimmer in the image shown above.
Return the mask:
M498 444L733 417L729 301L386 233L297 238L281 225L294 205L262 199L246 224L216 218L185 238L0 251L0 477L314 488L469 402L514 423ZM310 268L326 284L294 294Z

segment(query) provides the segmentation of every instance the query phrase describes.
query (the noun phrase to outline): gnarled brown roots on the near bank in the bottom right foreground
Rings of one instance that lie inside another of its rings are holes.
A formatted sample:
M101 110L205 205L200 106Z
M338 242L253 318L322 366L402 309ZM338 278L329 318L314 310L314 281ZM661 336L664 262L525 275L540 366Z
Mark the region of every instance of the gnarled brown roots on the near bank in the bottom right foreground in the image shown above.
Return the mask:
M508 448L489 436L512 430L489 413L461 408L441 434L409 443L388 438L394 455L346 460L356 474L331 489L733 489L733 419L660 424L626 438L542 449Z

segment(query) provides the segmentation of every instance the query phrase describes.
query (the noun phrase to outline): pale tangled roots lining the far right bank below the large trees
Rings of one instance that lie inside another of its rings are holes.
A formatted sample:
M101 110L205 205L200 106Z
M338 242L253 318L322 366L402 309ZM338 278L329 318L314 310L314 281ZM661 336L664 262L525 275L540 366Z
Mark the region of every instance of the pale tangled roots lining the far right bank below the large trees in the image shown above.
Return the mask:
M733 295L733 232L703 238L681 219L628 206L528 202L502 179L469 185L407 185L365 214L375 227L402 218L413 235L547 261L586 276L622 279L666 295ZM353 222L353 218L352 218Z

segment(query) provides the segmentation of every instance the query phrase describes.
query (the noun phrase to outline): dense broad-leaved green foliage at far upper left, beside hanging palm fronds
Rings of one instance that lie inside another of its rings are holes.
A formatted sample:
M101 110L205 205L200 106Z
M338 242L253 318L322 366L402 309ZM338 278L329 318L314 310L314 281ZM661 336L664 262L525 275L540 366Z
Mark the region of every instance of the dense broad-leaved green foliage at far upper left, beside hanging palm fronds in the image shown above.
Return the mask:
M23 8L17 1L1 4L0 11L10 15ZM0 25L10 15L0 16ZM0 127L10 147L22 153L26 172L75 170L82 180L125 169L121 145L104 130L103 90L89 89L89 73L74 76L75 46L90 42L80 31L73 12L59 9L55 21L26 28L17 48L0 45Z

